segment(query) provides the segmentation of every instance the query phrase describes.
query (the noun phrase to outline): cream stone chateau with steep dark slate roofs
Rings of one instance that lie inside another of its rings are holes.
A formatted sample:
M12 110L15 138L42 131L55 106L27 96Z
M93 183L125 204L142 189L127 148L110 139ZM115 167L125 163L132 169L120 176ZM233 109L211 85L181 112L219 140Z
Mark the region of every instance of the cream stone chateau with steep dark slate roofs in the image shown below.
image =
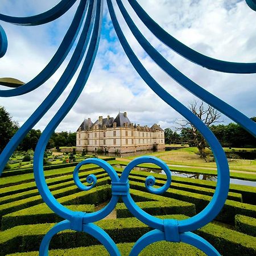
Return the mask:
M117 117L84 119L76 132L77 151L135 152L164 150L164 131L156 123L151 127L134 125L125 113Z

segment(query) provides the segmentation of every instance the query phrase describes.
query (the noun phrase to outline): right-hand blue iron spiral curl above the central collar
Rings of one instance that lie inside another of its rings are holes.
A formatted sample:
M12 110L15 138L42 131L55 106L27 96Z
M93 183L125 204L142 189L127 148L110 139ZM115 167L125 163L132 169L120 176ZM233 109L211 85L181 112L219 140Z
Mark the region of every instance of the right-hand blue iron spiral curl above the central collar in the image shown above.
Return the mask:
M161 195L162 193L166 192L168 188L170 188L171 185L171 172L169 167L166 163L164 163L162 160L155 158L154 156L141 156L139 158L135 158L133 161L131 161L127 166L125 167L125 170L123 170L122 175L120 177L120 182L125 183L128 178L131 170L133 170L134 167L138 166L138 164L142 163L153 163L157 166L161 167L163 171L166 174L166 184L163 185L161 188L152 188L153 185L155 185L155 177L148 176L146 178L146 188L149 192L154 193L156 195ZM153 177L153 178L152 178Z

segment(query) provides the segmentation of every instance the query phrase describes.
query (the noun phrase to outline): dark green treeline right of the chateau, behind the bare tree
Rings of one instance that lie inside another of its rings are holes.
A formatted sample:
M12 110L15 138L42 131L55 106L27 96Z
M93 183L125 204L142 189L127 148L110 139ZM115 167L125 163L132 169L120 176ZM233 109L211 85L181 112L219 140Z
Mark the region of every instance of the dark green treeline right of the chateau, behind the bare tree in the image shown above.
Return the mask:
M251 119L256 122L256 117ZM220 141L222 147L256 147L256 138L237 123L212 125L209 128ZM190 127L181 129L179 134L170 128L164 130L167 144L187 143L189 146L196 146L191 134Z

